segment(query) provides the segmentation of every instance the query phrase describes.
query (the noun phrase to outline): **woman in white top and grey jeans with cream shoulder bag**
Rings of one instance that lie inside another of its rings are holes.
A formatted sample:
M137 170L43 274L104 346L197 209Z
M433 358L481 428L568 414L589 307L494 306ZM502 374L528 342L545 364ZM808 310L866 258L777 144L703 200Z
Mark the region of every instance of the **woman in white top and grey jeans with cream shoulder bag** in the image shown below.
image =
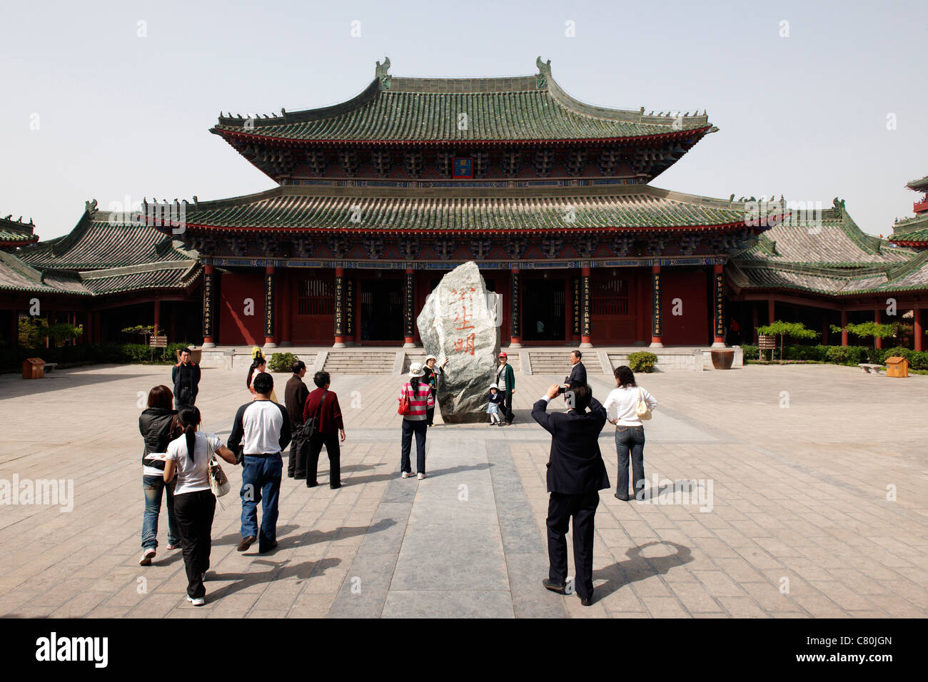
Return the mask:
M638 396L640 394L651 409L657 407L657 401L651 393L638 387L635 375L630 367L623 365L615 368L615 385L603 407L606 414L612 415L615 409L615 418L609 423L615 424L615 452L619 457L619 483L615 496L626 502L628 496L628 458L632 460L633 494L638 499L644 499L644 424L638 418Z

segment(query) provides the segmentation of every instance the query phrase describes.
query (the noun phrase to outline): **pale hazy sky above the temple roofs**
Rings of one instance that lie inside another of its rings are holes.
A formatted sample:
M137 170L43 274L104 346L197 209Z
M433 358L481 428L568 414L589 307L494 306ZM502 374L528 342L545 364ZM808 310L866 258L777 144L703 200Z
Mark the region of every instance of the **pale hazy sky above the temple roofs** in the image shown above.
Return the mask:
M541 55L591 104L708 109L720 132L656 187L839 196L887 235L919 199L905 183L928 174L919 2L20 2L2 17L0 215L44 239L85 199L272 187L207 132L220 110L343 101L384 55L393 75L440 77L535 73Z

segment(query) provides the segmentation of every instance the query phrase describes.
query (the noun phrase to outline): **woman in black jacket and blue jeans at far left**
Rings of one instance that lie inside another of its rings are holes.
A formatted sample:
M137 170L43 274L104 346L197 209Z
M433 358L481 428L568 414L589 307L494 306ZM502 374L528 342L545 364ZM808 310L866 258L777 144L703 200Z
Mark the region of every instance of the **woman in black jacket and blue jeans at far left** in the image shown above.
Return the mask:
M177 411L171 409L174 394L167 386L148 392L148 407L138 417L138 431L145 441L142 452L142 489L145 491L145 517L142 521L142 558L149 566L158 548L158 515L161 495L167 490L168 549L180 547L180 531L174 516L174 482L164 483L164 457L168 444L180 433Z

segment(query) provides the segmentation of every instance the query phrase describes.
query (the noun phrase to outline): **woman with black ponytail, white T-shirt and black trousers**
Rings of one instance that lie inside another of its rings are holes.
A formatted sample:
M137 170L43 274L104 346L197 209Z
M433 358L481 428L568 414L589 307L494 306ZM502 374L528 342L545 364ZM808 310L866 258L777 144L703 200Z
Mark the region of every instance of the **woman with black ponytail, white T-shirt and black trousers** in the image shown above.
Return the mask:
M203 578L210 568L216 509L208 465L213 453L229 464L235 464L236 457L213 433L198 431L200 410L197 407L182 409L178 421L183 433L168 445L164 481L172 481L176 471L174 514L187 569L187 601L194 606L202 606L206 603Z

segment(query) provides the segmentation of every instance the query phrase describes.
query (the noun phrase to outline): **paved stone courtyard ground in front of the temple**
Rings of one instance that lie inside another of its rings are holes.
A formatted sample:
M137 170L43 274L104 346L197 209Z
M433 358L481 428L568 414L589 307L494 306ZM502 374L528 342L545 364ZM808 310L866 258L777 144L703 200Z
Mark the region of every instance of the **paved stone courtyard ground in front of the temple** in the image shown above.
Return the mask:
M402 379L335 376L347 431L343 487L329 489L324 456L319 487L285 479L279 547L240 554L240 469L226 465L234 492L213 524L207 604L189 605L180 551L164 548L165 512L158 556L147 568L137 564L138 401L169 378L170 367L142 366L0 377L0 485L14 477L73 481L71 511L0 506L0 614L928 613L928 377L891 380L831 366L639 375L660 402L646 425L649 498L622 502L602 491L588 608L541 586L549 438L530 408L559 377L522 375L512 427L429 431L422 482L398 476ZM275 375L278 395L287 379ZM607 379L591 380L600 399ZM226 437L250 397L244 371L204 369L200 386L204 430ZM609 424L600 446L614 486Z

